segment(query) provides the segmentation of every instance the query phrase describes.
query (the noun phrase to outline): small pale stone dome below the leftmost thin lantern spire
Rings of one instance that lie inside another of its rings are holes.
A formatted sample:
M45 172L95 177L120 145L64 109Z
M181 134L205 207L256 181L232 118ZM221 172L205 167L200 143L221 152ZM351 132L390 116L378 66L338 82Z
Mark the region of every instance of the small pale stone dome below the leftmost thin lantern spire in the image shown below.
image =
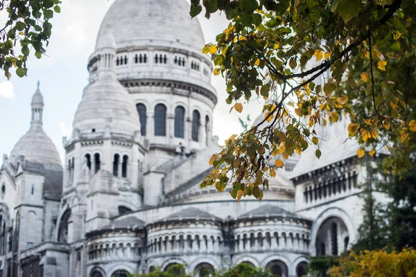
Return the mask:
M19 139L10 157L24 156L28 161L61 164L58 150L42 129L31 128Z

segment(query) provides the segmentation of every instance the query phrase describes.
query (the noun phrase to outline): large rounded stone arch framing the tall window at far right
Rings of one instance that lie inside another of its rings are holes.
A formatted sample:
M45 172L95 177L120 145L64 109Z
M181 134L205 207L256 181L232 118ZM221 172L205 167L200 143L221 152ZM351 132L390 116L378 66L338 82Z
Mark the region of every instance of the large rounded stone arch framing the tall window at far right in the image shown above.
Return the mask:
M311 228L311 255L316 256L318 251L315 248L316 237L318 235L318 231L322 223L327 220L329 217L338 217L346 226L348 235L349 235L349 243L356 241L356 229L354 229L354 224L352 223L351 217L342 209L337 207L327 208L326 210L322 211L318 217L316 217L315 221L312 224Z

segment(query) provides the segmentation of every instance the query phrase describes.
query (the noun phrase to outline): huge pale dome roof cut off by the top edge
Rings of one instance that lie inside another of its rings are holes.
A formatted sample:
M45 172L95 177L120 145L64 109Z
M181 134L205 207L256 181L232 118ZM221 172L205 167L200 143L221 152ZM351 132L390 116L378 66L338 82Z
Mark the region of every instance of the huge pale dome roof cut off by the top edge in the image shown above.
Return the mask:
M157 45L201 53L205 40L189 10L185 0L116 0L101 24L97 44L111 26L118 49Z

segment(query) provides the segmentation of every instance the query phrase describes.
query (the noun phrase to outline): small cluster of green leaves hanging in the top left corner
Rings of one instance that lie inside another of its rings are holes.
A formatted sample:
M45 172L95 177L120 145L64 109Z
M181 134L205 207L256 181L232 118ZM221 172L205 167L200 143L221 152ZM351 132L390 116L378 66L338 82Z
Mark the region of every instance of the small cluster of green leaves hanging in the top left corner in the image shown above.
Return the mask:
M28 56L42 57L51 37L49 19L60 12L59 0L0 0L0 12L8 13L5 26L0 26L0 69L10 79L11 70L27 74Z

